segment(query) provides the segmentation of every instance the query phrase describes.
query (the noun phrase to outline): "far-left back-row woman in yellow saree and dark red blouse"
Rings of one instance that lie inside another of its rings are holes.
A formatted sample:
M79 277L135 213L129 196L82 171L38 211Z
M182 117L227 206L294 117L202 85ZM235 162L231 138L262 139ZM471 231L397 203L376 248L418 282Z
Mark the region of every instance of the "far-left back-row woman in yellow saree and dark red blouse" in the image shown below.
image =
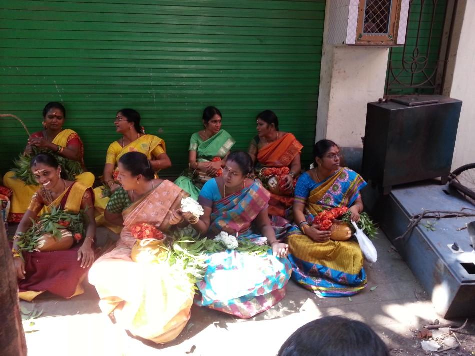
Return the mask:
M78 134L70 129L63 129L66 119L66 110L59 102L49 102L43 109L42 131L33 133L28 138L24 154L32 154L32 147L49 150L67 159L81 163L83 169L83 142ZM76 180L86 186L92 186L94 175L84 172L76 176ZM4 185L13 190L8 220L20 222L33 194L38 190L38 185L26 185L22 180L15 177L10 171L4 175Z

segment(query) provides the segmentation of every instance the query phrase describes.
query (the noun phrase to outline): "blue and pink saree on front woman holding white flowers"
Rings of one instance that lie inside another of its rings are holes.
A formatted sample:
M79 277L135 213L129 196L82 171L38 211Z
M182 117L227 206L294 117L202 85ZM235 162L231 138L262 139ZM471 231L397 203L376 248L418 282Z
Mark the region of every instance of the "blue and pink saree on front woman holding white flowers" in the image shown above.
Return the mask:
M214 179L206 184L211 183ZM253 233L251 224L268 200L269 192L256 182L214 202L200 194L201 204L213 206L208 235L214 237L228 228L238 232L238 239L262 243L262 235ZM227 250L210 254L206 264L205 277L197 283L200 298L195 304L243 319L279 302L291 271L288 259L274 257L272 250L264 256Z

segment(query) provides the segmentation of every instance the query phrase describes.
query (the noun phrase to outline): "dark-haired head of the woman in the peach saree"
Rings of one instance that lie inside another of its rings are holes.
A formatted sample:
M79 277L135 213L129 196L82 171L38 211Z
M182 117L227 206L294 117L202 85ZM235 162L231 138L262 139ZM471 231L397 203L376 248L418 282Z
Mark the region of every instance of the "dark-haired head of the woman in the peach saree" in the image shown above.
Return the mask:
M128 152L119 158L119 182L125 190L133 190L141 181L154 179L155 173L147 156L140 152Z

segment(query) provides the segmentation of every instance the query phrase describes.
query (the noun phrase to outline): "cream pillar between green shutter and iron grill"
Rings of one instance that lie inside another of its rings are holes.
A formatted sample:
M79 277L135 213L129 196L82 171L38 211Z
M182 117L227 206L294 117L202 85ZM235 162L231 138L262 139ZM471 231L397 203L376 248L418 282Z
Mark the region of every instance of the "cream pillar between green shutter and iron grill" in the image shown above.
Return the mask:
M316 140L331 139L344 147L362 147L366 104L384 95L387 47L328 44L330 1L323 31Z

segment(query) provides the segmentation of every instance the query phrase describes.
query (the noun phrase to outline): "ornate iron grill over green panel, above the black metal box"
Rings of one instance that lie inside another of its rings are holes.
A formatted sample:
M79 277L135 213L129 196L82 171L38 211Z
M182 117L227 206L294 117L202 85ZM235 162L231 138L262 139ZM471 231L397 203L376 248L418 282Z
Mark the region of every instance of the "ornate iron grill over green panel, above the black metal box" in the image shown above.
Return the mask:
M450 26L447 2L410 1L404 47L389 50L386 96L441 93L448 42L443 33Z

